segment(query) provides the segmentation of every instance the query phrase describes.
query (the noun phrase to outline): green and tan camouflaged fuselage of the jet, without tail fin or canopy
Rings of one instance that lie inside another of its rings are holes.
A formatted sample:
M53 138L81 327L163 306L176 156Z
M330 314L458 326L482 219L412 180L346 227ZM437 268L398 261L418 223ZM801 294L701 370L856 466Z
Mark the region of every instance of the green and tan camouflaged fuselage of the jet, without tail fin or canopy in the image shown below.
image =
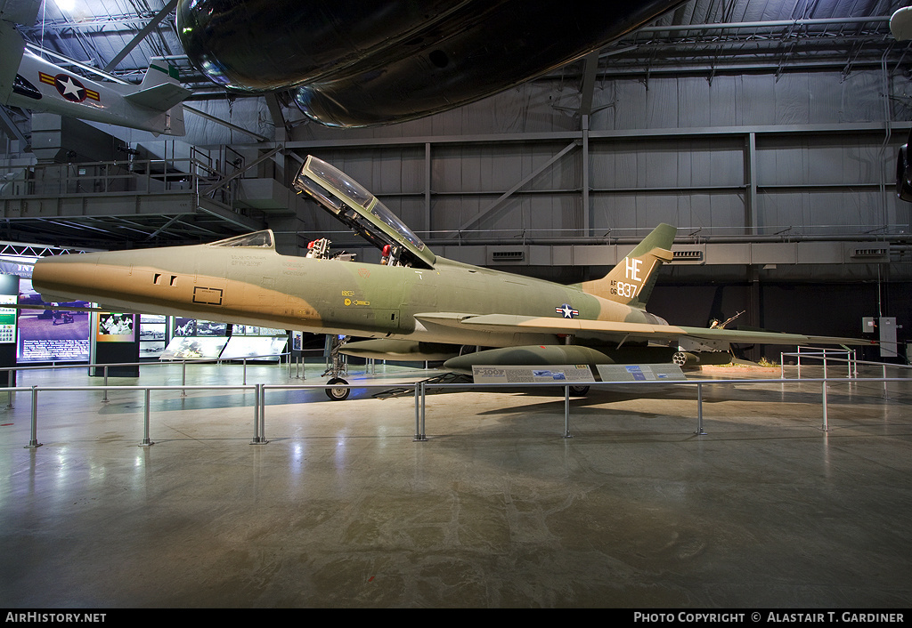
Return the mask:
M433 269L422 269L203 244L43 260L33 283L46 300L78 296L115 310L456 345L554 344L556 338L456 329L416 314L660 320L575 287L440 257Z

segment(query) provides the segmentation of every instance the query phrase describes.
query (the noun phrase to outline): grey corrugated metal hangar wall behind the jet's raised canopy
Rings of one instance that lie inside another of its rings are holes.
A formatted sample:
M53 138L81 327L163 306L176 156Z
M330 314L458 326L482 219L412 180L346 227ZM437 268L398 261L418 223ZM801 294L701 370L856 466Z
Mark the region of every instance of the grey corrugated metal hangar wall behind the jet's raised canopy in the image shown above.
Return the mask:
M902 91L907 80L894 83ZM708 235L862 233L909 224L892 193L906 132L884 124L909 112L891 111L887 85L873 70L603 81L584 148L578 86L555 80L389 128L302 125L290 145L436 237L639 233L659 221Z

